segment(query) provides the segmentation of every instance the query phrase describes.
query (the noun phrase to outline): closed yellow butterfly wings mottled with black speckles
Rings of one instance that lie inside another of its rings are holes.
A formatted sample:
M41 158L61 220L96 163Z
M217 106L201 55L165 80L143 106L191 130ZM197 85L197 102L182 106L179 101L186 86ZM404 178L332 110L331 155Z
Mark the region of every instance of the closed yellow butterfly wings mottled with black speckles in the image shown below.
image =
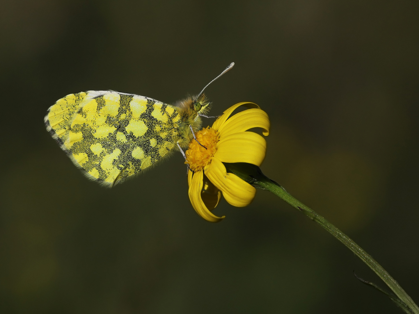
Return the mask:
M109 186L166 156L176 146L180 122L174 106L113 91L67 95L45 117L75 165Z

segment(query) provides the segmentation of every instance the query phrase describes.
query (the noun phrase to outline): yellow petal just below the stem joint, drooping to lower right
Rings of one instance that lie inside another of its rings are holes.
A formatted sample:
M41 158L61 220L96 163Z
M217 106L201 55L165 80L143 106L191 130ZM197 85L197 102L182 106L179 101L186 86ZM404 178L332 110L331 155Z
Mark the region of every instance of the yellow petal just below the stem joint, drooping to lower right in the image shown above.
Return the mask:
M225 200L233 206L243 207L251 203L256 189L233 173L227 173L222 162L212 157L211 164L204 168L205 175L222 191Z

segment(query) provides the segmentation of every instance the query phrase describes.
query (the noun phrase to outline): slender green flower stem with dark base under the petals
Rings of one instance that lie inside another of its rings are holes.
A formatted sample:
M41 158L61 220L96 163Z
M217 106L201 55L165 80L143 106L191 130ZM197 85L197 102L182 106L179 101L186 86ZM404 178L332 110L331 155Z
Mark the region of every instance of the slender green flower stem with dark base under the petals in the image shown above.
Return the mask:
M313 221L316 221L336 239L342 242L349 250L354 252L365 264L368 265L374 272L387 284L387 286L398 296L398 298L406 304L410 309L411 313L419 314L419 308L411 299L411 297L401 288L397 281L391 277L389 273L378 264L371 255L362 250L351 238L341 232L333 224L327 221L323 216L320 216L315 211L305 206L303 203L292 197L281 185L267 178L259 169L259 167L246 163L224 163L228 172L234 173L239 178L245 180L251 185L269 190L275 195L282 198L284 201L289 203L291 206L297 208L305 216Z

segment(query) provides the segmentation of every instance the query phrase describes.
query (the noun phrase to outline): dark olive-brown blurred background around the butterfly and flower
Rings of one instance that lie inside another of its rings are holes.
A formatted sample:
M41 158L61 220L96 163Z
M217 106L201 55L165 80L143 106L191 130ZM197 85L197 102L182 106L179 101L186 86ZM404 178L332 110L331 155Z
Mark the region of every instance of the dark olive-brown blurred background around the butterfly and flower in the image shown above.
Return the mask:
M401 313L385 284L287 203L187 195L181 154L109 190L44 127L84 90L271 119L261 169L369 252L419 302L419 3L3 0L1 313ZM211 125L209 120L204 124Z

